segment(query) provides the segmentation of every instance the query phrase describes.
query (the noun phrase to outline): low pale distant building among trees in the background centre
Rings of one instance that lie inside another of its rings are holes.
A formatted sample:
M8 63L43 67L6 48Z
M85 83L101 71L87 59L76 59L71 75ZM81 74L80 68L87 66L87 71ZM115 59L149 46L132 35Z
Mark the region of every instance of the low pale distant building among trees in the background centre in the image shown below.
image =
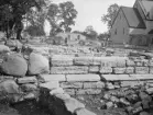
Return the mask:
M58 33L56 37L62 37L66 45L78 45L86 41L86 36L78 33Z

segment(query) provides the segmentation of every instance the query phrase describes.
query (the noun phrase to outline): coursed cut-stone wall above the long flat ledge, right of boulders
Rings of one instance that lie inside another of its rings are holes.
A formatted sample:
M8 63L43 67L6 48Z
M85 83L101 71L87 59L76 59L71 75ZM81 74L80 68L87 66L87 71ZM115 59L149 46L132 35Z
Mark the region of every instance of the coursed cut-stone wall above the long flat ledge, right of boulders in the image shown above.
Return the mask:
M51 74L146 74L153 73L153 60L128 57L53 57Z

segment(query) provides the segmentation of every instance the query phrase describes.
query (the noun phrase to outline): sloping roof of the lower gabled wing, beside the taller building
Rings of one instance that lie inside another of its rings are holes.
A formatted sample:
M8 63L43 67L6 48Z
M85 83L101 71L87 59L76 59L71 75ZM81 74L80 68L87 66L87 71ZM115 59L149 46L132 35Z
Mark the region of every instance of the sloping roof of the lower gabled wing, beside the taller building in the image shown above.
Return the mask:
M124 13L124 16L125 16L130 27L145 28L145 24L144 24L143 19L141 18L138 9L128 8L128 7L121 7L121 9Z

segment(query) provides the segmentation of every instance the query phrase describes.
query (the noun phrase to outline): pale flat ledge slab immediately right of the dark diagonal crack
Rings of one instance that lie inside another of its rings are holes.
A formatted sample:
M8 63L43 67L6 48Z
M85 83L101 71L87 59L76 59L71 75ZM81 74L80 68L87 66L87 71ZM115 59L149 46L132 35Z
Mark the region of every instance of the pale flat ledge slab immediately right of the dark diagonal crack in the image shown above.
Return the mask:
M134 78L130 77L129 74L101 74L101 79L107 80L107 81L135 80Z

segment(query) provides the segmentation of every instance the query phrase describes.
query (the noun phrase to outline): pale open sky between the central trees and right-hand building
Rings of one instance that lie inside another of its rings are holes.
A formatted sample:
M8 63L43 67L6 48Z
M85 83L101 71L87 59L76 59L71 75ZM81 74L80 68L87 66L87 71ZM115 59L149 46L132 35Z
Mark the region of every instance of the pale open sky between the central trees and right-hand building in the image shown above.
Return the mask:
M102 14L112 3L132 7L135 0L53 0L54 2L72 1L77 10L76 24L73 31L85 31L86 26L92 25L98 33L107 31L107 25L101 22Z

